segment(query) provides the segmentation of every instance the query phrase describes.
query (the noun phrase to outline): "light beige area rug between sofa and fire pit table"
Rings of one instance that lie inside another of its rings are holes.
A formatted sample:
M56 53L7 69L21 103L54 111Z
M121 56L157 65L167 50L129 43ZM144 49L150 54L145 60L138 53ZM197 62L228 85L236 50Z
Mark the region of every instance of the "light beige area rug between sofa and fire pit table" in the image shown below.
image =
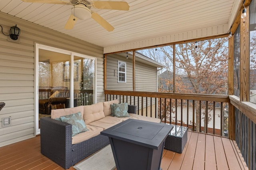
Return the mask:
M110 145L93 154L90 158L75 165L76 170L114 170L116 168Z

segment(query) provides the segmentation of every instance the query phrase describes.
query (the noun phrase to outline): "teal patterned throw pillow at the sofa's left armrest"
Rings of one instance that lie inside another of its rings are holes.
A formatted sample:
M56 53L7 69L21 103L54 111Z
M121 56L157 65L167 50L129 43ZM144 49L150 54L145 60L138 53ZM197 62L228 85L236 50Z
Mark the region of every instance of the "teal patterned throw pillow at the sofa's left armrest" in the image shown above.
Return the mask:
M60 116L61 121L72 125L72 137L78 133L88 131L81 112L77 112L70 115Z

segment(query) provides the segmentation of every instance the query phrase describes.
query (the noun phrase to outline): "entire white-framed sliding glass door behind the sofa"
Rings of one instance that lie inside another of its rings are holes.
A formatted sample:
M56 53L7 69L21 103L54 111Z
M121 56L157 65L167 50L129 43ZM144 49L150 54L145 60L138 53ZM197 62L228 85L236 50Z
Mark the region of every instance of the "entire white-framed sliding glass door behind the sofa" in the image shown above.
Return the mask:
M94 104L96 59L36 45L36 131L52 109Z

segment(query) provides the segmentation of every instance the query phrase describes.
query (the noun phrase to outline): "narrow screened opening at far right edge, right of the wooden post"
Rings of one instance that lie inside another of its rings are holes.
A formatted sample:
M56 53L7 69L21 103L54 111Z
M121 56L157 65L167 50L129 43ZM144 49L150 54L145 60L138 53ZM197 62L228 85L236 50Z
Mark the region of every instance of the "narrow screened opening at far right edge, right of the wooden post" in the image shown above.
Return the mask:
M250 102L256 104L256 0L250 4Z

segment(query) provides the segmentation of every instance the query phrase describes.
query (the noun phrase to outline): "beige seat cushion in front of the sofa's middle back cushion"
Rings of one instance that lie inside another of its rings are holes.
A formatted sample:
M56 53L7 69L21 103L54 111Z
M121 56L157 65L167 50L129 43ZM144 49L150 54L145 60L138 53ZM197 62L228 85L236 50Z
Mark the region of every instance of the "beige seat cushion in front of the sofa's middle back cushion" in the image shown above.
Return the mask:
M108 129L109 127L112 127L118 123L121 123L123 120L121 117L112 117L112 116L106 116L100 120L93 121L89 123L89 125L102 127L104 130Z

